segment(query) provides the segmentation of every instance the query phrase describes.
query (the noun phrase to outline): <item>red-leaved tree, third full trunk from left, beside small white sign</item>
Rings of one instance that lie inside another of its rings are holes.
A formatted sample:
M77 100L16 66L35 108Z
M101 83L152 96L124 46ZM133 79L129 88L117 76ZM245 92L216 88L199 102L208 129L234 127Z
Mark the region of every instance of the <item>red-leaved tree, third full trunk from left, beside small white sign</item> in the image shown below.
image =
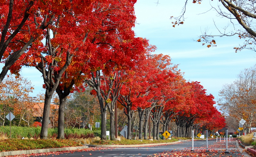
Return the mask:
M93 88L99 99L101 139L106 139L106 111L109 105L113 106L110 98L117 72L129 69L139 58L145 58L149 46L146 39L136 38L132 31L134 3L131 0L122 3L113 0L95 6L96 11L99 10L97 20L104 27L90 38L92 57L81 71L87 76L84 82ZM113 100L115 102L116 99Z

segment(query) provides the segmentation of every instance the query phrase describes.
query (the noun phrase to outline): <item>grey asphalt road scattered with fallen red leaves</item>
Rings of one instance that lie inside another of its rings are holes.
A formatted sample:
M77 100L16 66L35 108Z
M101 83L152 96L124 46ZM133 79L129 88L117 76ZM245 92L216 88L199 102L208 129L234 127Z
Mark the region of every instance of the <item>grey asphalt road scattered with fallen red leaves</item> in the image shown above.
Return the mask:
M231 145L228 148L230 153L226 152L226 145L224 141L222 143L217 142L216 140L209 140L209 156L212 157L244 157L249 156L247 153L242 152L241 148L236 146L236 141L231 141L229 143ZM234 147L234 148L233 148ZM176 144L170 145L160 145L160 146L146 146L146 147L125 147L125 148L95 148L94 150L80 150L78 152L62 152L62 153L47 153L43 156L56 156L56 157L146 157L146 156L157 156L159 153L163 152L191 152L192 149L192 141L182 141ZM206 140L197 140L194 141L194 150L195 151L205 151L206 149ZM215 151L214 153L211 153ZM36 156L35 154L32 155L33 157ZM40 155L42 156L42 155Z

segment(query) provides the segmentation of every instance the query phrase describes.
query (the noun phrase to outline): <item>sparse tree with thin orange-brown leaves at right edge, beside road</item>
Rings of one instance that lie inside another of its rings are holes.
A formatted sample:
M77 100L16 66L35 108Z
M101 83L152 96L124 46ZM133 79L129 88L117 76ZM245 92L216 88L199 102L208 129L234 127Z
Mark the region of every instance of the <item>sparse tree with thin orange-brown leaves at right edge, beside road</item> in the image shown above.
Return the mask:
M232 84L224 85L219 93L218 105L226 116L235 117L237 123L243 118L250 131L256 113L256 65L244 69Z

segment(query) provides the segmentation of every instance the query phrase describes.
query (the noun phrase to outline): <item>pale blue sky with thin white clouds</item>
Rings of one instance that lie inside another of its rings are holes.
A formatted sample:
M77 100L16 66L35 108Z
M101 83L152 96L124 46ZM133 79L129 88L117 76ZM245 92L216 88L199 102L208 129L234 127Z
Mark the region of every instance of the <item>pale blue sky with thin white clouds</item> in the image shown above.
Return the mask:
M218 0L204 0L202 4L189 1L184 24L174 28L170 17L180 15L183 1L158 0L156 4L157 0L138 0L135 4L138 24L133 30L137 36L147 38L150 44L156 45L154 53L169 55L173 64L179 64L186 80L201 82L207 93L213 94L217 100L222 85L232 83L240 71L253 66L256 54L250 50L235 53L233 48L239 43L243 44L237 37L217 38L215 48L207 48L202 46L202 42L193 41L199 39L198 36L205 29L216 33L213 20L219 28L228 24L227 19L216 16L216 11L208 11L209 2L217 6ZM34 85L35 91L31 96L44 93L39 71L22 68L21 76L30 79Z

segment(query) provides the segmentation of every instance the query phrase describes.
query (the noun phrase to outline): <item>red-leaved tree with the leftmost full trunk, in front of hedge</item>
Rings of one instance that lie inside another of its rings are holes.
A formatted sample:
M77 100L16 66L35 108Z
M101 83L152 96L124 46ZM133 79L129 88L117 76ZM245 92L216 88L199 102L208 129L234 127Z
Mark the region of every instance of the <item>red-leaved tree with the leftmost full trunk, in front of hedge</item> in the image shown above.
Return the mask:
M33 42L27 53L13 65L11 71L18 72L18 67L28 65L36 67L42 73L46 92L40 136L47 138L52 94L59 86L62 74L68 68L73 56L84 53L81 47L85 46L88 30L81 28L78 23L85 21L82 18L92 12L92 5L90 0L65 1L61 4L49 0L41 3L38 15L35 14L32 23L35 26L39 25L37 16L44 19L44 23L49 21L50 26L43 32L44 36L40 36L41 39L45 38L45 44L41 40Z

